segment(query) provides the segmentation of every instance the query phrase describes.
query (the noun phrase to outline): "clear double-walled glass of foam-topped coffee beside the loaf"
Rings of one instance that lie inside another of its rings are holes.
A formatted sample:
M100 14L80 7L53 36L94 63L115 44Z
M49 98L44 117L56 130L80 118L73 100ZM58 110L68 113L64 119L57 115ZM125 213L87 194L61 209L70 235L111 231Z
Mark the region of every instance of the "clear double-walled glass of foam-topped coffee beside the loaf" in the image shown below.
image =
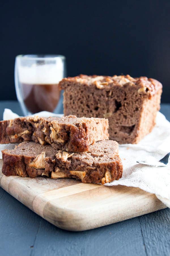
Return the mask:
M60 98L58 82L66 76L62 55L18 55L15 89L24 115L54 112Z

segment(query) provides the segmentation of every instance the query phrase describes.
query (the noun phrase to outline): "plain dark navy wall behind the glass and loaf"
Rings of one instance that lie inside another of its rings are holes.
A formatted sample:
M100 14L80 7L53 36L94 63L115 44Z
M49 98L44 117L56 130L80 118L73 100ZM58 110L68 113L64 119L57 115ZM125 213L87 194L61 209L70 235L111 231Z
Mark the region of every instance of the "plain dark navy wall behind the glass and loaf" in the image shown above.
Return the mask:
M56 53L68 76L152 77L170 102L170 1L3 1L0 22L0 100L16 99L16 55Z

